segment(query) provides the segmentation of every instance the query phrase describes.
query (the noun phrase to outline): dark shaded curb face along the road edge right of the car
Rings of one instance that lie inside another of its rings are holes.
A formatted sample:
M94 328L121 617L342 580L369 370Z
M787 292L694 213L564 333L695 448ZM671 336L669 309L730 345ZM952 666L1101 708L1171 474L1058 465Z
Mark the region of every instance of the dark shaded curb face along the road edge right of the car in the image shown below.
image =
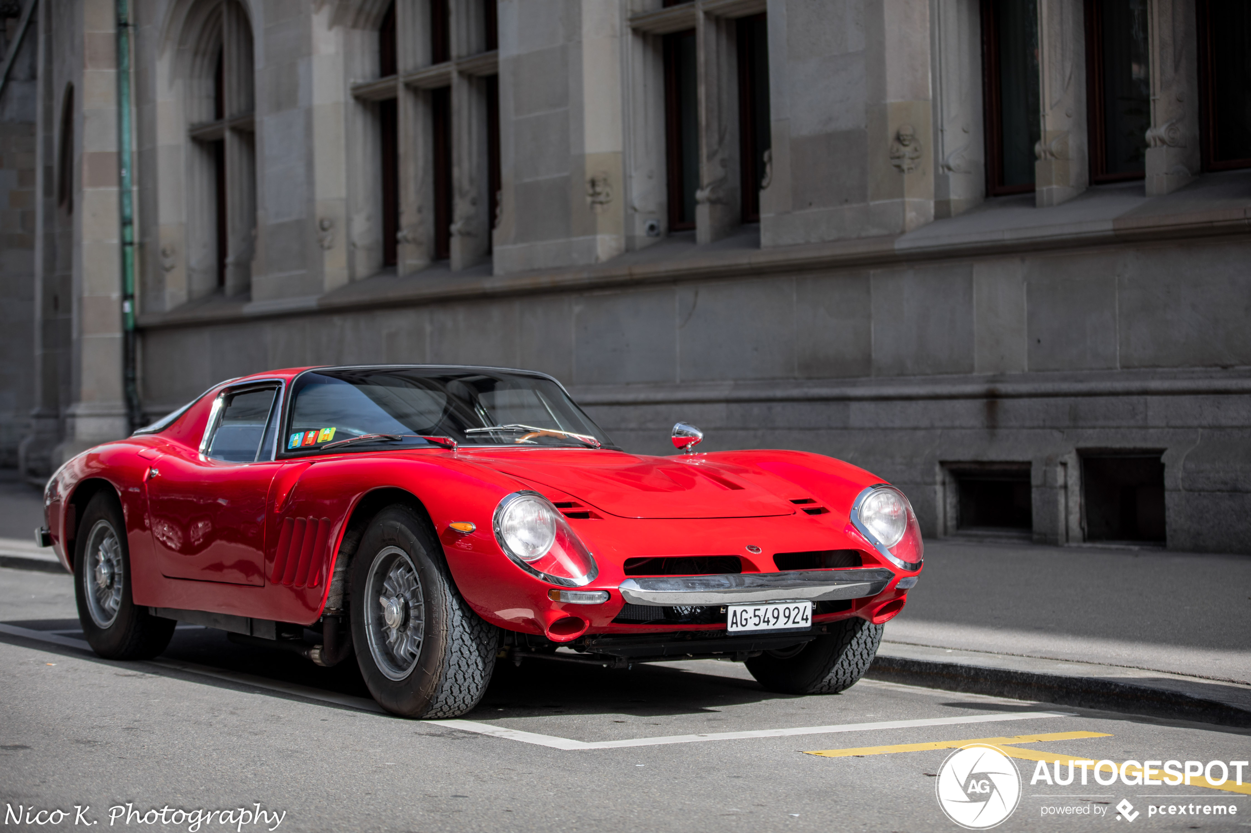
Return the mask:
M869 679L967 694L1011 697L1057 706L1251 728L1251 712L1221 701L1096 677L1070 677L883 656L873 661L864 676Z

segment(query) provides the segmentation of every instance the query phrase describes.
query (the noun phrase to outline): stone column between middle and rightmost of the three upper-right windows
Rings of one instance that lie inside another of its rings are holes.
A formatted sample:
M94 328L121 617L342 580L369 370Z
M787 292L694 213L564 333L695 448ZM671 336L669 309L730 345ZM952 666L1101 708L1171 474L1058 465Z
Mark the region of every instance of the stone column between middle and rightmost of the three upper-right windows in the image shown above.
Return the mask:
M1150 15L1147 196L1162 196L1190 182L1200 170L1195 0L1151 0Z

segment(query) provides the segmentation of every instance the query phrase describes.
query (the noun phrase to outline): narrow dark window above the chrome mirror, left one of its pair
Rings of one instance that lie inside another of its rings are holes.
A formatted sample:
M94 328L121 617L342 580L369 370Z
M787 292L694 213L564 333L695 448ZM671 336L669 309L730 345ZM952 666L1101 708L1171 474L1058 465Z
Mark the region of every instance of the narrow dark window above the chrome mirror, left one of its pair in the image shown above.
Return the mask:
M696 227L699 189L699 110L696 31L664 36L664 144L668 164L669 231Z

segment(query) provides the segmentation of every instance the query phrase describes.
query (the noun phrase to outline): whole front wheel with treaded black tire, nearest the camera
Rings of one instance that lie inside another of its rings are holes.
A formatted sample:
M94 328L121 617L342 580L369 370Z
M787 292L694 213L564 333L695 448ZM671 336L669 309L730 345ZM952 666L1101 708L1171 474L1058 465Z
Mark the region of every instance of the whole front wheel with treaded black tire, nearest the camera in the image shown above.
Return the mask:
M495 667L499 629L457 591L428 522L407 506L383 510L349 569L352 641L374 699L403 717L473 709Z

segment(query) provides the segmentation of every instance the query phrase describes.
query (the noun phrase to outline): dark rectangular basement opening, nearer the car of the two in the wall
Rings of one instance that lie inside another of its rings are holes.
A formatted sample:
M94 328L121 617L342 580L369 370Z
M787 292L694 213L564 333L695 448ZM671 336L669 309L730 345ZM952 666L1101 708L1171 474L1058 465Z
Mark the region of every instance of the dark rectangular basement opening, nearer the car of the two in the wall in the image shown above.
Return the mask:
M1027 533L1033 530L1028 462L948 466L958 532Z

